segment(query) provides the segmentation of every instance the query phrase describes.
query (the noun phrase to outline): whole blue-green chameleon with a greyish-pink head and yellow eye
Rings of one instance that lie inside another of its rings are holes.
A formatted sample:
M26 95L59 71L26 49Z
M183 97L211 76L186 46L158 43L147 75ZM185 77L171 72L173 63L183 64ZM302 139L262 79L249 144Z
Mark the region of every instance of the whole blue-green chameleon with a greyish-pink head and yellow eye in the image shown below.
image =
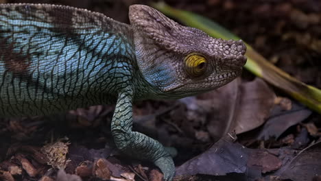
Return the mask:
M116 103L117 148L173 180L167 149L132 131L133 101L180 99L223 86L241 74L246 45L211 38L147 5L131 5L129 19L64 5L1 4L0 117Z

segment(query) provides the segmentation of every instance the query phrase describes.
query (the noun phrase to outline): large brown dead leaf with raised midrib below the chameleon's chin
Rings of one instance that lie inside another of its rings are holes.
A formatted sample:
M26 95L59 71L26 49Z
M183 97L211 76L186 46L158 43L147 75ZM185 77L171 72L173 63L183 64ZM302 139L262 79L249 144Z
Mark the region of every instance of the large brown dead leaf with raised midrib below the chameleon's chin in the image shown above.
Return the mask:
M262 125L270 116L274 98L268 84L256 78L243 84L237 79L222 88L182 101L189 114L195 114L197 119L206 117L207 130L217 141L228 130L240 134Z

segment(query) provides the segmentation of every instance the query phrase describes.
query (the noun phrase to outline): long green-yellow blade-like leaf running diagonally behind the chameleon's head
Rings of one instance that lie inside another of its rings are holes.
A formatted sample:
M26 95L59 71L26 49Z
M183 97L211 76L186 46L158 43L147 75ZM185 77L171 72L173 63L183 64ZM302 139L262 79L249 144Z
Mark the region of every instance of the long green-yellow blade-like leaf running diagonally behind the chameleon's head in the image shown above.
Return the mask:
M204 32L209 34L209 36L214 38L223 38L226 40L240 39L224 27L221 27L217 23L207 19L204 16L171 8L169 5L166 5L163 2L153 3L152 6L167 16L174 17L185 25L202 29ZM302 104L305 104L312 110L315 110L321 114L320 89L296 80L296 78L268 62L268 60L261 56L261 54L257 53L257 51L250 47L250 45L246 44L246 46L248 48L246 51L248 61L246 62L245 68L248 69L248 71L252 72L258 77L263 78L263 80L269 82L273 86L280 88L294 99L297 99Z

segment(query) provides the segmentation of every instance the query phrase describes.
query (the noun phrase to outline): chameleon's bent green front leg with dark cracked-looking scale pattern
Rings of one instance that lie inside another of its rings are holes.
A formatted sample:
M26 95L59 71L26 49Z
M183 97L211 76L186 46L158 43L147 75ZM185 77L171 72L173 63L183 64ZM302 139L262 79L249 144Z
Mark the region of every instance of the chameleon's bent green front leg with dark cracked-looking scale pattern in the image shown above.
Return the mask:
M112 117L111 131L115 144L121 152L154 162L163 172L165 180L173 180L174 162L163 145L145 134L132 131L132 91L119 94Z

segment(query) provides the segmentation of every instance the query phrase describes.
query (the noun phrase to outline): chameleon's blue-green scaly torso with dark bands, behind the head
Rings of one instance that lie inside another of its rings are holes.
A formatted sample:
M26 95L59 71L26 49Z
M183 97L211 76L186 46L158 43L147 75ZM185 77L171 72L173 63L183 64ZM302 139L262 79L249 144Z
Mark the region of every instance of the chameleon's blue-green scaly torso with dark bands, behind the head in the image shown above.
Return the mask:
M130 27L103 14L60 5L2 4L0 116L115 101L119 82L130 78L133 51Z

